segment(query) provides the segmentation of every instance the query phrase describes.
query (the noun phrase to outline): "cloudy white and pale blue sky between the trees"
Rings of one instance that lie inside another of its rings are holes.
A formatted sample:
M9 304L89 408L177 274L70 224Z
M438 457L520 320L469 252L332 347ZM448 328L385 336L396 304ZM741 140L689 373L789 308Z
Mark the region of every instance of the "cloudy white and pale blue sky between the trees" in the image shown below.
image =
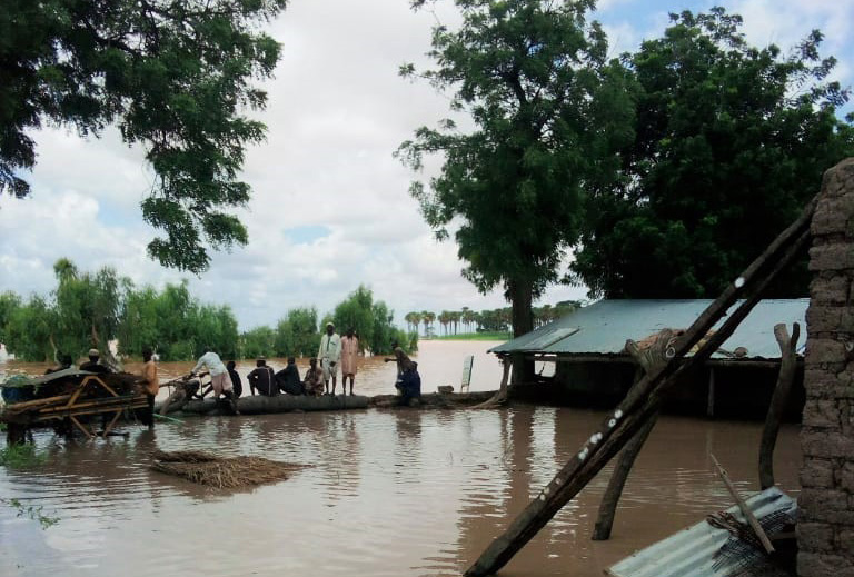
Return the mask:
M854 0L600 0L592 18L617 56L661 36L667 12L716 4L744 17L754 46L787 52L822 30L822 54L838 59L833 79L854 84ZM410 310L507 306L500 289L480 295L461 277L457 247L435 240L408 193L411 180L427 175L393 158L416 128L449 115L447 94L397 70L429 64L430 29L454 16L447 1L414 12L409 0L290 0L266 27L282 56L275 78L261 83L267 108L251 115L268 131L247 150L241 175L252 188L249 206L237 211L249 243L211 252L200 277L146 256L158 232L139 206L153 182L141 148L125 145L115 129L98 139L63 127L33 131L37 166L21 175L32 193L0 198L0 292L47 296L56 287L53 263L64 257L81 270L112 267L138 287L187 279L200 301L230 306L240 330L275 326L296 307L324 316L359 285L400 326ZM535 305L586 297L584 287L556 285Z

